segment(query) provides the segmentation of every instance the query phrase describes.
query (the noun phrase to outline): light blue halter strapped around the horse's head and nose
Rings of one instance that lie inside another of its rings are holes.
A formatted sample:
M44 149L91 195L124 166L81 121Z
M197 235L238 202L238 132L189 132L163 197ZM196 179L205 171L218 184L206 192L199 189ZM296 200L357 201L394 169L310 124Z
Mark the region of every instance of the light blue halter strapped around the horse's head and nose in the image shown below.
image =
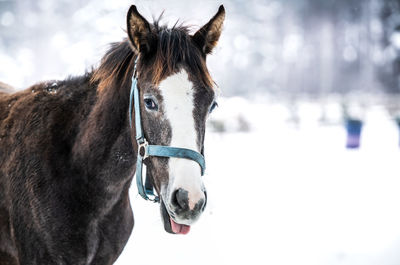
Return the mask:
M202 176L204 175L206 165L204 156L194 150L180 148L180 147L148 144L143 134L142 121L140 117L140 97L139 97L139 88L137 86L137 72L136 72L137 60L138 59L136 58L132 76L130 99L129 99L129 125L131 128L132 128L132 108L133 107L135 108L136 141L138 145L138 154L136 161L136 184L138 187L139 194L140 196L143 197L143 199L159 202L160 198L154 194L153 185L150 184L149 178L147 176L146 176L146 184L143 185L143 179L142 179L143 161L147 157L149 156L176 157L176 158L185 158L193 160L199 164ZM133 106L132 106L132 99L133 99Z

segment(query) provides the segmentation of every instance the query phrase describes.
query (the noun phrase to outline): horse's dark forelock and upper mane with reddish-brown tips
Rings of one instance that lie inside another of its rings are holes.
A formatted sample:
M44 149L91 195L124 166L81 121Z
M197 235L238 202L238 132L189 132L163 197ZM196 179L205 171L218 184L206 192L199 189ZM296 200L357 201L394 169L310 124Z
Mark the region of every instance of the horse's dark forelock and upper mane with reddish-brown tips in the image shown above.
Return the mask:
M207 70L205 56L192 41L189 28L176 24L172 28L160 26L160 18L151 25L154 38L150 46L153 51L141 60L145 67L141 67L139 75L151 76L152 82L159 84L168 75L187 67L203 86L212 89L214 82ZM136 57L128 39L112 43L100 66L94 70L91 82L98 83L99 91L111 84L126 84L132 78Z

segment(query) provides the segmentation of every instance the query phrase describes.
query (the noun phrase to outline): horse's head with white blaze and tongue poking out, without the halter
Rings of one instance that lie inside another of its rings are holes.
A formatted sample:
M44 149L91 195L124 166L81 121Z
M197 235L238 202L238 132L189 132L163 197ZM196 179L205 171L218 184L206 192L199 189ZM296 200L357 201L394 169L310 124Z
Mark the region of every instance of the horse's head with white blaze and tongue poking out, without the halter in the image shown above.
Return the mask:
M191 35L183 26L150 24L136 6L129 9L127 33L137 56L141 125L149 144L204 155L206 120L217 104L206 57L217 44L224 18L220 6L216 15ZM199 164L156 156L147 157L144 163L160 197L165 230L186 234L207 202Z

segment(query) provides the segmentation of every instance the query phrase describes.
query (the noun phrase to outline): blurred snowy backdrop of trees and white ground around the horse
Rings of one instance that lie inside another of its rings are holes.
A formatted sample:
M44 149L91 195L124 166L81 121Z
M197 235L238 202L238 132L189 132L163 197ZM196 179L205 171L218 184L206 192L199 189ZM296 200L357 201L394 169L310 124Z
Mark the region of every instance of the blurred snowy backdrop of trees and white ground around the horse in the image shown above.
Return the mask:
M117 264L400 264L398 0L0 0L0 81L96 67L131 4L195 32L221 3L208 207L169 235L132 187Z

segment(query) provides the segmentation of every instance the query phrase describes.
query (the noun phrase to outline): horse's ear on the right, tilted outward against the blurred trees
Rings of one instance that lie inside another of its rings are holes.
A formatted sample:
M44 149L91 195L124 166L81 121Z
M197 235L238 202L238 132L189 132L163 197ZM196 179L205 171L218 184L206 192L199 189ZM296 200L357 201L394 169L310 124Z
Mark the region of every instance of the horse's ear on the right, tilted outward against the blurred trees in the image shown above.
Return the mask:
M221 5L217 14L193 35L193 41L204 54L211 53L221 36L222 25L225 19L225 8Z

